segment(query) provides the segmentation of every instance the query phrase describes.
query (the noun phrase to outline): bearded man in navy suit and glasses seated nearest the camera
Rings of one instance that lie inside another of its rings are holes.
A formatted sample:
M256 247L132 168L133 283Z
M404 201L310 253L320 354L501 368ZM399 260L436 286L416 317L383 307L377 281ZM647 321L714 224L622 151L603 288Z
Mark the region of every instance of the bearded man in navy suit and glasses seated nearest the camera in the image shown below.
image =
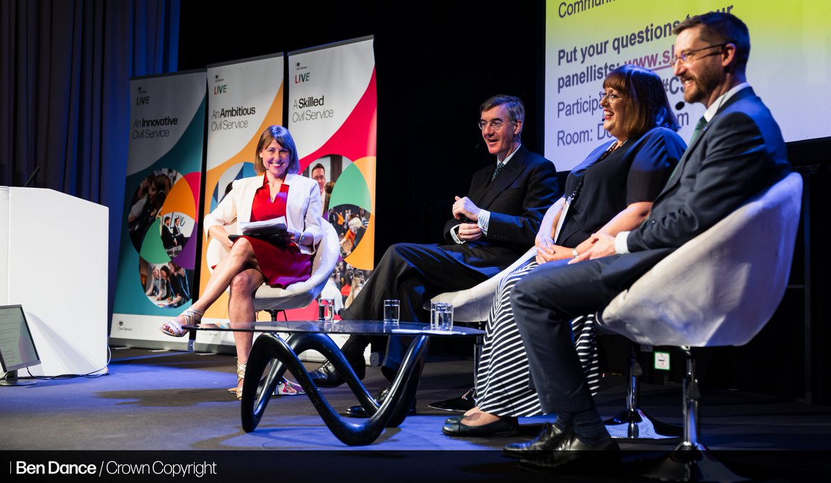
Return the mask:
M617 450L588 391L569 320L602 310L661 258L789 173L779 126L745 81L745 24L711 12L681 22L675 33L675 75L686 102L706 105L706 124L693 134L647 222L617 237L596 233L590 250L568 264L539 266L511 297L543 411L557 414L534 441L505 447L525 458L524 466L573 466L597 461L579 450Z

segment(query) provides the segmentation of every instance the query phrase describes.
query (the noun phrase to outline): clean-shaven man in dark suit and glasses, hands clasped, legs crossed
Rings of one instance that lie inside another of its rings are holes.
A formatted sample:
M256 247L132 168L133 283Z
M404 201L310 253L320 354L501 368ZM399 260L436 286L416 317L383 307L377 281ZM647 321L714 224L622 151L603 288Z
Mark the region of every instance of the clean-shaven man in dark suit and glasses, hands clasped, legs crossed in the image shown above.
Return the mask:
M445 225L446 245L398 243L381 258L345 320L381 320L385 299L401 300L401 320L426 323L423 305L434 295L465 290L502 271L534 245L548 207L559 198L557 169L521 144L525 110L519 98L494 95L479 107L479 128L496 163L473 175L465 197L455 197ZM356 373L364 374L366 337L353 335L342 347ZM393 378L408 338L391 337L381 371ZM324 363L312 380L334 387L343 379Z

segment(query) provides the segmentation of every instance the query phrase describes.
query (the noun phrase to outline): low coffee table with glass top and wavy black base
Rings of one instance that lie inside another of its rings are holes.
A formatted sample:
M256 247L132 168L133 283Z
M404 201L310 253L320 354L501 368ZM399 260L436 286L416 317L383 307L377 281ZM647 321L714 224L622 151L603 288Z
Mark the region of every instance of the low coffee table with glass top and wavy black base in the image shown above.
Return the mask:
M451 332L444 332L429 330L425 324L401 322L393 326L378 320L339 320L327 324L312 320L255 322L234 324L234 327L230 324L197 324L184 325L183 329L263 333L251 348L243 381L241 416L245 432L253 432L257 428L274 388L288 370L306 391L307 397L332 434L349 446L371 444L385 427L398 427L404 422L416 398L430 337L477 337L484 334L482 330L465 327L455 327ZM275 334L278 332L288 333L289 336L283 340ZM401 368L392 381L390 393L381 405L366 391L341 349L327 334L403 335L413 338ZM329 359L370 417L354 422L355 419L347 420L332 408L297 358L297 354L308 349L317 350ZM262 379L260 375L272 361L276 362L268 370L268 376Z

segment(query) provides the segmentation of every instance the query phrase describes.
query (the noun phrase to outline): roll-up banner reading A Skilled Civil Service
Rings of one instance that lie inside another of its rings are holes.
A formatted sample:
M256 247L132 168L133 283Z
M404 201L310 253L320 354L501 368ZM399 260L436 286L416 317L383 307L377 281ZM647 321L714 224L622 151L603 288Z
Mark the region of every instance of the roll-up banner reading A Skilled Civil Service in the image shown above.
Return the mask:
M321 184L341 260L323 296L348 306L374 268L377 97L372 37L288 54L288 129ZM317 305L289 319L317 317ZM336 340L341 344L341 340ZM310 358L312 359L312 358Z

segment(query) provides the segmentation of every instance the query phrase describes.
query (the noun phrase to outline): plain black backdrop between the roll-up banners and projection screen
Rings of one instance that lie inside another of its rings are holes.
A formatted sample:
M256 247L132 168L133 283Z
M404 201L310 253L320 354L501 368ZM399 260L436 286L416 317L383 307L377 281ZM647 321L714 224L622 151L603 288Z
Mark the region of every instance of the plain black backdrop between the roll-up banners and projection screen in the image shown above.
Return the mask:
M522 98L523 143L543 152L545 2L287 2L274 26L259 26L272 5L201 15L203 2L182 0L179 69L374 36L376 261L396 242L443 241L454 196L494 163L476 126L489 96Z

